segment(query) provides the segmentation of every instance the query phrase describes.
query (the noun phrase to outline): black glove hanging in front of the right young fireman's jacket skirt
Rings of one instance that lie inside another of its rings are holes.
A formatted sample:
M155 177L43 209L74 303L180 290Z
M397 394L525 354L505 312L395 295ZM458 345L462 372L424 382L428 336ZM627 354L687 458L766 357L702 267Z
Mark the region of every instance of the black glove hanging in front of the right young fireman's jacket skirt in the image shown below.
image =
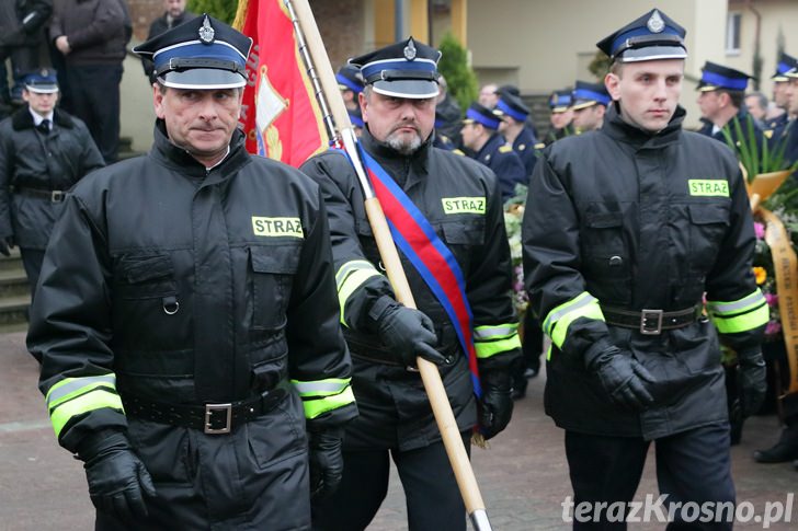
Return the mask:
M653 403L646 383L653 383L654 378L628 350L616 346L597 351L588 349L585 366L598 377L602 388L615 405L642 411Z

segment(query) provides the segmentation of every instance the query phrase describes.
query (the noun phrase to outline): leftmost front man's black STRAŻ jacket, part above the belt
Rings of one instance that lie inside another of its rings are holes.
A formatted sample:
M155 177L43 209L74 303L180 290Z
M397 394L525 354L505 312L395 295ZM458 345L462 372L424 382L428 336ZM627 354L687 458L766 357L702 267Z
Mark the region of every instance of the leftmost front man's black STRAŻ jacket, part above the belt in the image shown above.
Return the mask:
M123 400L176 404L235 402L287 379L298 390L347 381L318 186L247 153L240 131L206 170L162 127L147 155L81 181L56 223L27 336L43 393L110 372ZM301 419L296 394L290 407ZM355 413L350 401L308 424ZM73 451L84 430L125 425L112 407L88 411L60 442Z

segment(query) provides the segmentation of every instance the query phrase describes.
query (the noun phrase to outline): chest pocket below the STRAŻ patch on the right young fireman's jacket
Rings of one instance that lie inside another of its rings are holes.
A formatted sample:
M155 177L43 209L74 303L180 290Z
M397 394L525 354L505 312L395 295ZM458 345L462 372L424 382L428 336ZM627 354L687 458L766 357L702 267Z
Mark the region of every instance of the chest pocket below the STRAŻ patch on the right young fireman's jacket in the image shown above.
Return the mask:
M704 276L715 265L718 249L729 227L729 204L689 205L689 263Z

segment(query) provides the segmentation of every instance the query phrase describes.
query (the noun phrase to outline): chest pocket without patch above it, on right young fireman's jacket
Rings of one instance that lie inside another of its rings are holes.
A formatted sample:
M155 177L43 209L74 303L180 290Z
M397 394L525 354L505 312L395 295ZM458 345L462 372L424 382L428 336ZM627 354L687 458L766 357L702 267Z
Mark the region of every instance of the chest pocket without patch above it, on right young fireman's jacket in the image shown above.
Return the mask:
M623 213L589 213L582 241L582 258L591 295L603 303L629 303L631 258L624 241Z

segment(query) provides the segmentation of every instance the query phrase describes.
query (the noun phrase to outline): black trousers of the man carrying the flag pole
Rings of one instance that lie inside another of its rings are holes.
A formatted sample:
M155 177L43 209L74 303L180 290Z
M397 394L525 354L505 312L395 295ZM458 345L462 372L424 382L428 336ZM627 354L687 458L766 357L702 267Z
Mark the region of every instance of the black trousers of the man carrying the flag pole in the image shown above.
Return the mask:
M470 449L470 435L464 436ZM374 519L388 494L394 459L408 509L410 531L465 531L466 507L442 441L410 451L344 451L343 480L332 497L314 504L314 530L358 531Z

